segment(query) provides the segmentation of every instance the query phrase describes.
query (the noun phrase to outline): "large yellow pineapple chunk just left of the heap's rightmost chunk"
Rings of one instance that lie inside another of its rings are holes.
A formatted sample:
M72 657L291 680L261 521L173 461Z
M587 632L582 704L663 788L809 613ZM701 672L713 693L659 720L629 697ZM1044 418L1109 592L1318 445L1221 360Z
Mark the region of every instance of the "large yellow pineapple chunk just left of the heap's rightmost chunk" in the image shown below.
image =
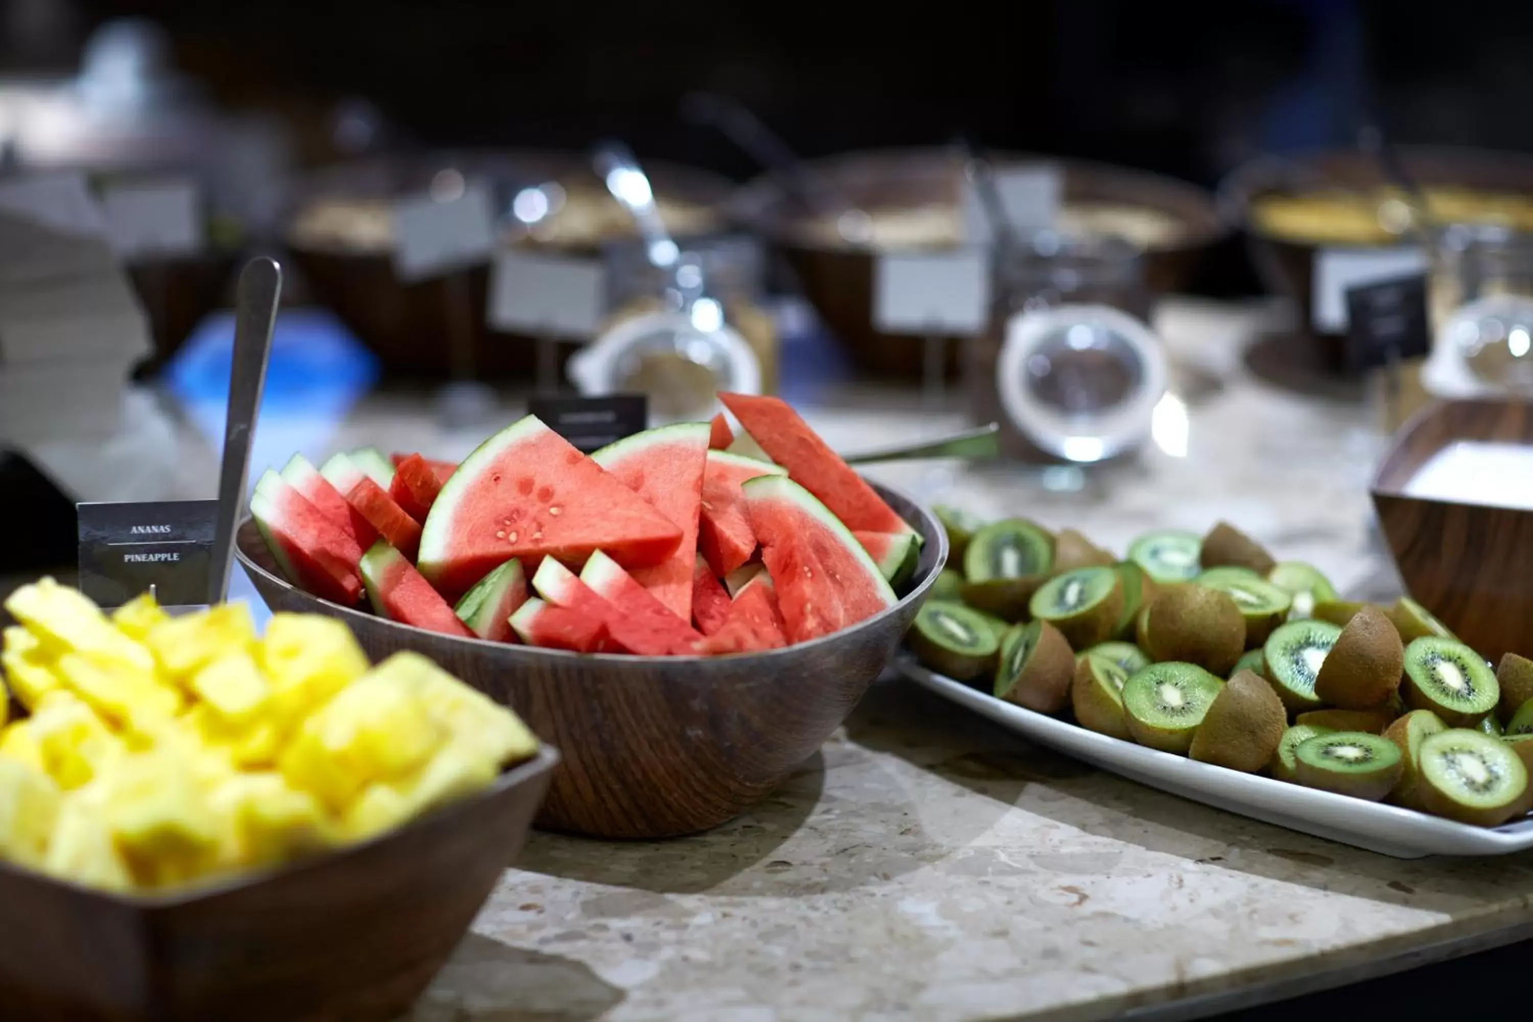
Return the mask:
M409 685L369 673L304 720L279 765L290 785L339 812L368 783L412 772L446 739Z

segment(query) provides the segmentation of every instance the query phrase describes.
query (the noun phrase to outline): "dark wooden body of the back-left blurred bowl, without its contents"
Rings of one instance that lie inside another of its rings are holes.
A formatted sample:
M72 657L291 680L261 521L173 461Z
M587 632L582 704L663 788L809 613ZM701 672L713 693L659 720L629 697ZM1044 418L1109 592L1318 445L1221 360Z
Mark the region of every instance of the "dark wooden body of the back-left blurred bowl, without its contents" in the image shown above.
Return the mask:
M317 245L293 233L296 218L314 202L389 201L425 190L435 173L449 167L469 178L489 179L503 190L546 181L558 181L566 187L601 187L590 161L581 153L442 152L342 164L316 172L294 188L284 216L284 244L314 297L379 355L385 372L428 378L449 375L449 337L452 331L460 331L472 346L478 378L530 378L537 366L533 339L492 331L484 322L489 267L405 283L394 274L386 245ZM658 198L719 207L711 227L724 224L722 204L730 195L730 185L722 178L658 161L645 161L644 169ZM509 198L504 196L507 202ZM599 253L596 245L537 245L564 254ZM561 365L578 348L573 342L561 343Z

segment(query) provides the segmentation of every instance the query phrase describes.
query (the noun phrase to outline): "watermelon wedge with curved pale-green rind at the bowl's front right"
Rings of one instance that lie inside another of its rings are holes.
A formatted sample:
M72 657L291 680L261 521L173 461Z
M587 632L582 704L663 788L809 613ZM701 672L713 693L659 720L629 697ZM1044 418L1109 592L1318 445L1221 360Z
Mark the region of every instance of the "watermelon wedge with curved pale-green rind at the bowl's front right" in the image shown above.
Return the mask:
M789 640L819 639L895 604L878 565L806 489L774 475L742 489Z

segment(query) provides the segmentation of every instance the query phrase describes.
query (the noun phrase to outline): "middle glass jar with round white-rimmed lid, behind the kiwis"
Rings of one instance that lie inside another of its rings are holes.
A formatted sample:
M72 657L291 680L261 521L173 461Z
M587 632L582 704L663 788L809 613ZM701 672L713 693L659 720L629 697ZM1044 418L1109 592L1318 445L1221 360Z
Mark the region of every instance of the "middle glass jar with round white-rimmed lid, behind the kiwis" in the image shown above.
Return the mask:
M977 421L1001 424L1024 461L1098 461L1136 434L1165 389L1141 250L1119 237L1039 231L992 256L992 313L967 343Z

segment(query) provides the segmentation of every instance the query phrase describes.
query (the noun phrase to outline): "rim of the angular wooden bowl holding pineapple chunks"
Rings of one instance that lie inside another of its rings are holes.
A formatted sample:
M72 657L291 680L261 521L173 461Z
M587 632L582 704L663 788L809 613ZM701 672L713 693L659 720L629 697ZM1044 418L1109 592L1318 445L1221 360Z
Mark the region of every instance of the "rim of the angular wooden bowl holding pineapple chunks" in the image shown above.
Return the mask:
M428 823L438 823L451 820L454 817L461 817L468 814L475 804L498 798L506 792L521 788L527 781L553 771L560 765L560 751L549 745L547 742L538 740L538 752L530 760L523 760L510 769L501 771L498 777L484 789L464 795L463 798L455 798L454 801L432 809L420 817L414 817L403 826L394 827L392 830L385 830L366 841L359 841L356 844L348 844L345 847L333 849L320 855L313 855L308 858L297 860L294 863L285 863L281 866L273 866L268 869L259 869L248 873L239 873L219 880L216 883L202 886L189 886L182 889L173 889L167 892L149 892L149 893L120 893L112 890L101 890L100 887L87 887L84 884L77 884L60 876L52 876L38 870L26 869L25 866L17 866L0 860L0 876L11 876L17 880L25 880L29 883L51 884L54 887L61 887L71 890L77 895L84 895L87 898L97 898L123 909L133 909L140 912L155 912L166 909L179 909L182 906L195 904L208 898L218 898L222 895L233 893L236 890L245 890L248 887L256 887L270 883L277 878L287 878L307 870L328 867L337 861L353 858L362 852L394 841L409 835L411 832L426 826Z

